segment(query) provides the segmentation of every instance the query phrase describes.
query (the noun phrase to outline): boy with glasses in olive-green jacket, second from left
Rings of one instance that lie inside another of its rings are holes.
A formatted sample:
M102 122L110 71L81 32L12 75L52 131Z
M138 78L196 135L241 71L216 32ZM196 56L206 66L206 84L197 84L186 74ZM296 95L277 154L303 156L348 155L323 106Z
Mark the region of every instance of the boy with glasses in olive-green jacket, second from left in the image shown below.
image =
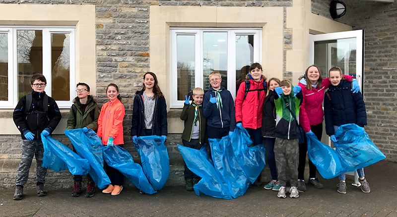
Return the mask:
M96 131L98 129L99 106L90 95L90 87L85 83L77 84L77 97L73 100L73 105L70 107L69 117L67 118L67 130L83 128L83 132L88 132L88 129ZM73 151L74 147L73 147ZM71 196L78 197L81 193L81 175L74 175L74 187ZM91 176L87 174L87 191L85 197L94 196L95 183Z

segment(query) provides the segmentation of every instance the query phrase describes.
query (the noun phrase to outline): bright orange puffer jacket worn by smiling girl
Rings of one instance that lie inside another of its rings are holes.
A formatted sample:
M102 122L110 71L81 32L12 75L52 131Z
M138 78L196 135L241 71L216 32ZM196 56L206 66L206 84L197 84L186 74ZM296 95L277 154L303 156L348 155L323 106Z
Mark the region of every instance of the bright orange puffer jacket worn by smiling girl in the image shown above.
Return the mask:
M126 111L120 100L103 104L98 118L98 136L102 137L102 144L107 144L109 137L113 137L114 145L124 144L123 119Z

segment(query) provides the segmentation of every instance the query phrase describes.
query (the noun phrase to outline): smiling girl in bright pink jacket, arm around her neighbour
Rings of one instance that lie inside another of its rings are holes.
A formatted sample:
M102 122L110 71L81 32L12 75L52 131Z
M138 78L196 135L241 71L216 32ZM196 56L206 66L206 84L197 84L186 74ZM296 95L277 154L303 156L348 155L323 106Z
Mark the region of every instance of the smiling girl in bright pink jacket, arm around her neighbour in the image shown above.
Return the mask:
M343 75L344 78L353 84L353 93L360 91L360 86L353 76ZM303 103L299 112L299 124L307 134L315 134L319 140L323 134L323 100L325 90L330 86L330 79L321 76L320 69L311 65L306 69L305 75L299 78L302 88ZM306 191L304 182L304 171L306 164L307 141L299 144L299 165L298 165L298 190ZM324 186L316 178L316 166L309 160L309 183L315 188Z

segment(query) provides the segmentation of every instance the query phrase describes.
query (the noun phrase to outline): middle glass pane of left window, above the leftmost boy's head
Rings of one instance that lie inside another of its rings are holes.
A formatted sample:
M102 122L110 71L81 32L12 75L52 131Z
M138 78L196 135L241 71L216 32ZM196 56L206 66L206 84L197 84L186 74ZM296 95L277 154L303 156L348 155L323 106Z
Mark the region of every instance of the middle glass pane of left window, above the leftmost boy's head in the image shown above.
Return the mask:
M43 73L43 33L17 30L18 99L32 92L30 77Z

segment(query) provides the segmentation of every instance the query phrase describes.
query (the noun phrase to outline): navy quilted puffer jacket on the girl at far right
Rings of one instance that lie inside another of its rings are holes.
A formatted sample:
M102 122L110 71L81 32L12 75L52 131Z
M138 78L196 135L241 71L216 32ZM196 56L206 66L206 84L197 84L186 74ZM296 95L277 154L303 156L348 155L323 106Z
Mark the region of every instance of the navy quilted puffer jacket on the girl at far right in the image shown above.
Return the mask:
M355 123L361 127L367 125L367 112L363 96L360 92L353 94L351 83L341 80L337 86L328 88L324 97L326 132L331 136L335 133L333 126Z

